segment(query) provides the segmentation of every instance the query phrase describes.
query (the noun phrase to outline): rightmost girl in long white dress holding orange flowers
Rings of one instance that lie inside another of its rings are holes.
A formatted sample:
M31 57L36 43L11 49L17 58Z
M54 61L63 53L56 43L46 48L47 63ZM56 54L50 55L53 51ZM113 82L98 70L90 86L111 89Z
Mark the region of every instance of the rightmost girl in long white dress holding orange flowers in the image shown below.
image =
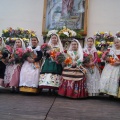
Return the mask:
M100 92L110 96L120 97L118 94L120 79L120 39L114 39L113 47L102 56L106 60L106 65L102 71L100 79ZM111 58L114 62L111 63ZM119 92L120 93L120 92Z

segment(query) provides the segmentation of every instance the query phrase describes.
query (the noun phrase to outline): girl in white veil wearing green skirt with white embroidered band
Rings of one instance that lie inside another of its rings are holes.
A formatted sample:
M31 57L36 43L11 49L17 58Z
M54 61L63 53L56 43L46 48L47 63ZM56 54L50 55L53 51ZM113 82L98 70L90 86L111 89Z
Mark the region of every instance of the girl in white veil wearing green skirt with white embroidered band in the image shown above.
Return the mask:
M63 46L57 34L52 34L48 45L51 46L51 51L63 52ZM50 57L50 51L46 51L46 59L43 63L39 87L51 89L58 89L60 85L60 78L62 73L62 65L54 62Z

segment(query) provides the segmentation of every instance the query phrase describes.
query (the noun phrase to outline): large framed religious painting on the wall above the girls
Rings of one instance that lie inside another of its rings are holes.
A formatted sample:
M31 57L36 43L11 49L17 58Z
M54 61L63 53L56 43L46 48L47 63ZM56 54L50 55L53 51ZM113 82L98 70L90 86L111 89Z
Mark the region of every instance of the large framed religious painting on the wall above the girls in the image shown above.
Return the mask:
M88 0L44 0L43 32L69 29L87 31Z

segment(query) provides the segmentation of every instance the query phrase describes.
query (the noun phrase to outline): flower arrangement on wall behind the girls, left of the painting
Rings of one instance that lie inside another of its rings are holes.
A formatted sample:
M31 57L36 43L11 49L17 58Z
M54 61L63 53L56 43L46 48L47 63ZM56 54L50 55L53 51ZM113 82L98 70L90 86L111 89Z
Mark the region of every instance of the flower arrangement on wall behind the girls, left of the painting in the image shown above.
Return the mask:
M12 27L9 27L2 30L2 37L4 38L6 44L14 44L17 38L21 38L27 46L29 39L34 36L36 36L36 34L33 30L25 30L23 28L13 29Z

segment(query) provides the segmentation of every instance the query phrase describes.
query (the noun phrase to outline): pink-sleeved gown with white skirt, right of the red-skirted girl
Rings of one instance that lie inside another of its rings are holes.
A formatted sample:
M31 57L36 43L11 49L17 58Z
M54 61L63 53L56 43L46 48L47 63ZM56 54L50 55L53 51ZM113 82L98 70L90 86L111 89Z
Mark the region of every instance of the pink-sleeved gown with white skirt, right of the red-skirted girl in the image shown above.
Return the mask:
M97 51L96 49L88 50L88 48L85 48L84 52L91 56L91 62L94 63L93 67L86 68L88 96L97 96L100 92L100 71L97 65Z

